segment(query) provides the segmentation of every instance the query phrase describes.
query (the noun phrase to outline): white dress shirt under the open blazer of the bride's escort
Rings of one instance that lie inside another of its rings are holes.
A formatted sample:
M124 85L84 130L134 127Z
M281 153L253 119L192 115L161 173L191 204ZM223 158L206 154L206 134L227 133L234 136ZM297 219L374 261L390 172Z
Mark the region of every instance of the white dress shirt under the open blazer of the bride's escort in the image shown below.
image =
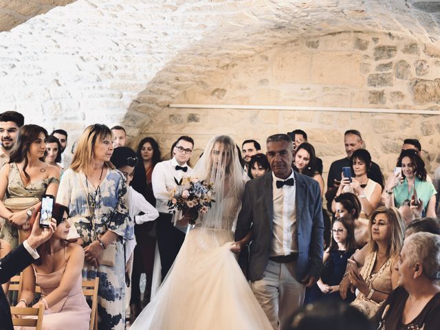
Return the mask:
M298 252L296 238L296 205L294 186L276 188L276 181L294 178L294 171L287 179L280 179L272 173L272 192L274 201L274 226L272 228L272 244L270 256L287 256Z

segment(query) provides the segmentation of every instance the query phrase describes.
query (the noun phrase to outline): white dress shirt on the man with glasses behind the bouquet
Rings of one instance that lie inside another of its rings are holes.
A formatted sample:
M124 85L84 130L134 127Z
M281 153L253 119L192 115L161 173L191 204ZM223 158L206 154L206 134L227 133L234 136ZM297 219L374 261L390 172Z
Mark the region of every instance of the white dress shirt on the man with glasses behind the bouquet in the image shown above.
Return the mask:
M170 197L170 191L177 186L174 179L179 181L184 175L188 176L190 173L190 166L184 164L181 167L188 167L188 170L176 170L176 166L179 165L177 160L173 159L165 160L164 162L157 163L153 169L151 175L151 184L153 185L153 194L156 198L156 208L159 212L168 213L168 199Z

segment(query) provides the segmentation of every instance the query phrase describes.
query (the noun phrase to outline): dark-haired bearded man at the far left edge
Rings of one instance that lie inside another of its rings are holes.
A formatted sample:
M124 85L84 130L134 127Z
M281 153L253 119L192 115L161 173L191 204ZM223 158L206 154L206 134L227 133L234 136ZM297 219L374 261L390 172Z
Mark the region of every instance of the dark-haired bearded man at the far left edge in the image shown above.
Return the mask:
M9 162L9 153L17 141L20 127L25 118L17 111L5 111L0 113L0 168Z

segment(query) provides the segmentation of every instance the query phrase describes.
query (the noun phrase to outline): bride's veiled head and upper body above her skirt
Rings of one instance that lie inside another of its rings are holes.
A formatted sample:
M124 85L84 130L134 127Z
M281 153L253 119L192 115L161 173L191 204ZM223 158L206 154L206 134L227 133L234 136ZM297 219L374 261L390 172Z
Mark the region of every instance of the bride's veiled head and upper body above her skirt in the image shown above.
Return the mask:
M235 142L227 135L212 137L190 176L213 185L215 202L206 214L201 214L201 226L230 230L240 210L244 189L243 168Z

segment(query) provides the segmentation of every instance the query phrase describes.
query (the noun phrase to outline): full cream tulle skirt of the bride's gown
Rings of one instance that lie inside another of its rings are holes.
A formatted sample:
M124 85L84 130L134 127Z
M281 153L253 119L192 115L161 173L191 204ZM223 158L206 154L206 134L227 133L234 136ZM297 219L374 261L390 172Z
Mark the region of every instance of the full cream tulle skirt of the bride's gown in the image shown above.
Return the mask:
M229 230L195 228L131 330L272 329L230 251Z

